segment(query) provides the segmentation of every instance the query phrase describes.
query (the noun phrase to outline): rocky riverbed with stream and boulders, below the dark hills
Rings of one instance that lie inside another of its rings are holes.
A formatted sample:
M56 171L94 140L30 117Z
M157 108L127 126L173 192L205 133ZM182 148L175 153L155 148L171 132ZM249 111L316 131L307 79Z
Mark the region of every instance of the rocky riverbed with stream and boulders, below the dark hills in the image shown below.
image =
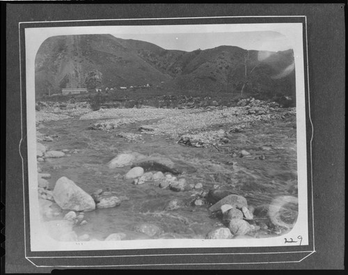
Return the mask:
M273 237L297 217L296 111L43 102L38 196L64 241Z

